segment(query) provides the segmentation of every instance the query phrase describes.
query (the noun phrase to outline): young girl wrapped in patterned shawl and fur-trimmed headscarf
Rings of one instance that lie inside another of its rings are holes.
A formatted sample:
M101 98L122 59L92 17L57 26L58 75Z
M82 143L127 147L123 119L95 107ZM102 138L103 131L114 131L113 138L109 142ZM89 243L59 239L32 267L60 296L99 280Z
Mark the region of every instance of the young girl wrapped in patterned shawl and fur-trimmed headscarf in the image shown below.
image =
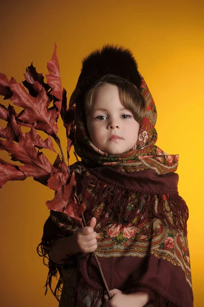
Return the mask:
M154 145L156 108L131 52L105 46L85 58L74 103L81 162L71 170L89 226L51 211L40 244L49 258L46 286L59 271L53 294L58 298L63 283L60 307L192 307L188 208L174 173L178 155Z

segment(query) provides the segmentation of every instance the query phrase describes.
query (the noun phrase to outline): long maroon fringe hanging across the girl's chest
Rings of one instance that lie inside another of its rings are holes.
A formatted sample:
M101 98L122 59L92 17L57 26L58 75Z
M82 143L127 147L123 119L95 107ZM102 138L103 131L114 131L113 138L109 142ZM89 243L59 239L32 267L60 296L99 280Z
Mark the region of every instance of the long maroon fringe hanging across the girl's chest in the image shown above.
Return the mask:
M85 201L86 190L89 190L89 187L93 200L87 206L86 216L93 216L95 209L103 203L101 217L97 217L103 225L107 220L121 223L123 216L128 224L132 223L135 217L139 224L146 218L159 218L164 220L169 228L183 231L187 235L188 207L177 191L135 191L132 188L116 187L86 172L82 201Z

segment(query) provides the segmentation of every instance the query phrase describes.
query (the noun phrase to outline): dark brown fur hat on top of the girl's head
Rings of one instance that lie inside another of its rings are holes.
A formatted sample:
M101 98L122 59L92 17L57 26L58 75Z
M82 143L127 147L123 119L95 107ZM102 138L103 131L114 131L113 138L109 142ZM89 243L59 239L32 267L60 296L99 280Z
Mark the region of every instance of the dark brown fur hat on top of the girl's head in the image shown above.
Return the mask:
M138 65L131 51L122 46L105 45L101 50L96 50L83 59L77 93L84 96L89 87L107 74L122 77L138 88L141 86Z

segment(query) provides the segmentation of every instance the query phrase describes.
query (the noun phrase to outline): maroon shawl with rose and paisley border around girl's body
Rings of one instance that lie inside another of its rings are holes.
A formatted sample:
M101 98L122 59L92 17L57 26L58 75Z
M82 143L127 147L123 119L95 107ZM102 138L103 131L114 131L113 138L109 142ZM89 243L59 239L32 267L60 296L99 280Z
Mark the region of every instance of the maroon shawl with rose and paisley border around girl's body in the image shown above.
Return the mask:
M118 176L111 167L86 169L81 163L76 163L75 169L83 173L77 180L80 198L86 201L86 222L92 216L97 218L96 253L109 289L146 291L152 295L153 306L192 307L188 209L177 192L178 175L158 176L153 170L144 170ZM43 256L56 239L73 234L77 228L65 214L51 211L44 225ZM76 305L83 306L85 296L80 301L80 291L85 289L86 295L98 291L100 298L103 284L92 254L74 258L79 272ZM64 266L69 261L67 257ZM51 259L49 267L49 277L56 269L60 271Z

